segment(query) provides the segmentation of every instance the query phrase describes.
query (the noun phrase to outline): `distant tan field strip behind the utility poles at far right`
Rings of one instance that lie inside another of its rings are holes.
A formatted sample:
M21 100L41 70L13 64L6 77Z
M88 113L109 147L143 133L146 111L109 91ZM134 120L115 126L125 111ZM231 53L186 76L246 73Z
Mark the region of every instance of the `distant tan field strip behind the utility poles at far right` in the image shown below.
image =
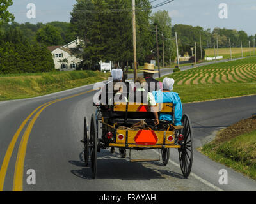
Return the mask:
M232 50L232 58L242 57L242 50L241 48L231 48ZM215 54L219 56L223 56L223 58L227 59L230 58L230 48L219 48L217 53L217 48L215 49ZM251 56L256 54L255 48L251 47ZM248 57L250 56L250 48L244 47L243 48L243 56ZM214 49L205 49L205 57L214 57Z

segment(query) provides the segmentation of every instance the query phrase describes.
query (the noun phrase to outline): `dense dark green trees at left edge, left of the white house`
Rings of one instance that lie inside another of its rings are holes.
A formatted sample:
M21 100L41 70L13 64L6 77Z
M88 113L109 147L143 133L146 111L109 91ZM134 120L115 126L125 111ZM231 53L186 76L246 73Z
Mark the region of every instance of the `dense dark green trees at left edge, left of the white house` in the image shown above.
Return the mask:
M51 52L28 39L19 29L0 34L0 73L35 73L54 70Z

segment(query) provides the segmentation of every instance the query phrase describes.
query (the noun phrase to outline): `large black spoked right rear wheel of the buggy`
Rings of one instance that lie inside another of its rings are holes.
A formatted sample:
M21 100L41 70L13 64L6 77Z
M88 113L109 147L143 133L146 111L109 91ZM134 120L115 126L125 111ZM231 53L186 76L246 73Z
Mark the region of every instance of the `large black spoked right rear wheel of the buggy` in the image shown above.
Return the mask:
M180 141L181 147L178 149L179 161L182 174L188 178L193 163L193 131L188 115L183 115L181 122L184 128L179 131L179 134L182 134L184 139Z

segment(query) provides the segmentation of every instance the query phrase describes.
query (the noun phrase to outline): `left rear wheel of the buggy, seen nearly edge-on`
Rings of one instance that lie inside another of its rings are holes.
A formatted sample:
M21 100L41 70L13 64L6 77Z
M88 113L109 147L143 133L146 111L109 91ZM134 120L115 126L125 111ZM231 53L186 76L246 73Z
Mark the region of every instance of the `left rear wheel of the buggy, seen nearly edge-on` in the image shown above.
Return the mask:
M97 129L95 117L92 115L90 124L90 156L93 179L97 175Z

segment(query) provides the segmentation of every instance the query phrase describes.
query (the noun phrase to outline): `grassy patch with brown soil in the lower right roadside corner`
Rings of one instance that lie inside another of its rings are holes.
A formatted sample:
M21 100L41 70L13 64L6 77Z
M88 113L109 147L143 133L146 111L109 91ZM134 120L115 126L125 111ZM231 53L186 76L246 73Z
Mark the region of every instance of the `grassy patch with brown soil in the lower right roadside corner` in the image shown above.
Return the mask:
M198 150L256 180L256 117L223 129L212 142Z

